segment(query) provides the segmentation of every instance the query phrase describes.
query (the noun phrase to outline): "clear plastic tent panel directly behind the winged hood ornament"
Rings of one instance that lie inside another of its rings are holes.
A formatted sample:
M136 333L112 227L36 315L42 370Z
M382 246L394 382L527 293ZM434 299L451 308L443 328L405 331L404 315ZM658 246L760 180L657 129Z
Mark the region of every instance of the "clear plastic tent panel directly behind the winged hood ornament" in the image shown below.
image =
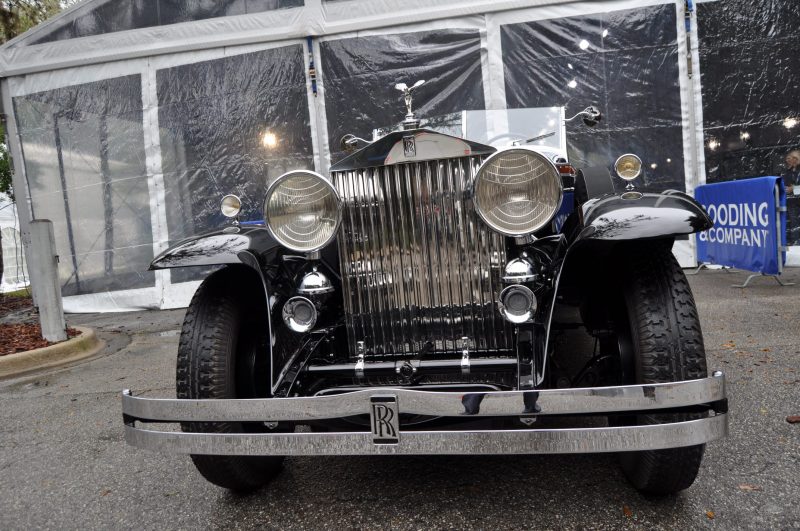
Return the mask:
M331 159L344 157L345 134L369 138L376 127L403 120L403 94L394 88L400 82L425 80L414 92L420 117L484 109L480 48L480 34L468 29L320 43Z

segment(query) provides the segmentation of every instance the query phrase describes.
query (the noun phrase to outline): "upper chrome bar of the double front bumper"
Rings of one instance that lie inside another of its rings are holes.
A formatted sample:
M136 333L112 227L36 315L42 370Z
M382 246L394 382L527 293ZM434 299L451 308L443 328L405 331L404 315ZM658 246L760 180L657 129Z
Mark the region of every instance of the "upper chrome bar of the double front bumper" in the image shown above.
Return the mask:
M434 417L527 415L531 400L538 406L537 415L585 415L687 407L726 396L725 377L715 373L663 384L476 393L380 387L321 397L180 400L134 397L124 391L122 412L154 422L302 422L366 414L370 397L387 393L397 396L402 413Z

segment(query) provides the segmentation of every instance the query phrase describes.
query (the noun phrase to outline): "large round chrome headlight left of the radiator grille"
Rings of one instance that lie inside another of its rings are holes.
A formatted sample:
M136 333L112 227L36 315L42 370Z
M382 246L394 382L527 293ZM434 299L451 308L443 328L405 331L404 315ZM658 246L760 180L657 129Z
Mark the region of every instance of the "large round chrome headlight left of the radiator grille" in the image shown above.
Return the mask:
M313 252L336 236L341 219L339 194L322 175L308 170L278 177L264 198L264 220L278 243Z

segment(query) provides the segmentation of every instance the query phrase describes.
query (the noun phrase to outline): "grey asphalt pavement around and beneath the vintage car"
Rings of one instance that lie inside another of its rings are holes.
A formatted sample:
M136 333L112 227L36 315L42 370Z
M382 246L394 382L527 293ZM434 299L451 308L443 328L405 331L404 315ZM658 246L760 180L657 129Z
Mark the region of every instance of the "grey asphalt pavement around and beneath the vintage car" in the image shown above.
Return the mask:
M800 424L785 421L800 414L800 286L729 287L743 279L691 280L732 425L678 496L639 495L607 455L294 458L229 494L122 439L122 388L173 393L183 312L142 312L72 316L109 342L100 357L0 382L0 529L800 529Z

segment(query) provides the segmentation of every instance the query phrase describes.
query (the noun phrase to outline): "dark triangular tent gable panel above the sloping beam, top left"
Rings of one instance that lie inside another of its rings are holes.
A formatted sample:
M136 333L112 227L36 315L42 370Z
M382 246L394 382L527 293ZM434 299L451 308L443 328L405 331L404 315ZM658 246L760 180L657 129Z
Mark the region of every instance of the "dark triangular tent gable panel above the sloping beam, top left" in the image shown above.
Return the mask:
M50 31L21 44L42 44L302 5L303 0L95 0L56 21Z

